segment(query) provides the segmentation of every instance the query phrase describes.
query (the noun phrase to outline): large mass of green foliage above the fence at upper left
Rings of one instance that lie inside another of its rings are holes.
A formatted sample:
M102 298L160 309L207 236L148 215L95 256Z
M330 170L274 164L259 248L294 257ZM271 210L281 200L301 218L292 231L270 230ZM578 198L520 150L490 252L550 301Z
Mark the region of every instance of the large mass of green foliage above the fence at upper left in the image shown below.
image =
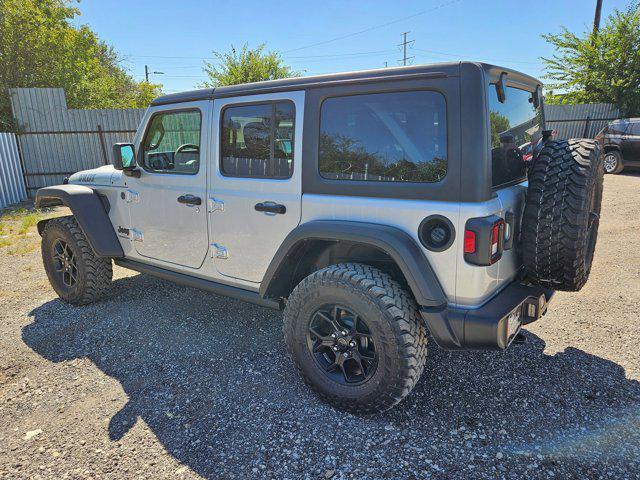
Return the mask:
M71 108L146 107L160 88L136 82L71 0L0 1L0 130L11 129L8 89L64 88Z

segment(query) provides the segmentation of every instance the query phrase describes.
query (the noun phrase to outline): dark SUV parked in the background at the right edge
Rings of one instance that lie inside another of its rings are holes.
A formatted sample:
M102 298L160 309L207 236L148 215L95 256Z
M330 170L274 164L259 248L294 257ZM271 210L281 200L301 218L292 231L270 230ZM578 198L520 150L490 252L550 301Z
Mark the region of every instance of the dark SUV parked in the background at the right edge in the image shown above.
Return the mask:
M640 118L614 120L598 133L596 140L604 150L606 173L640 167Z

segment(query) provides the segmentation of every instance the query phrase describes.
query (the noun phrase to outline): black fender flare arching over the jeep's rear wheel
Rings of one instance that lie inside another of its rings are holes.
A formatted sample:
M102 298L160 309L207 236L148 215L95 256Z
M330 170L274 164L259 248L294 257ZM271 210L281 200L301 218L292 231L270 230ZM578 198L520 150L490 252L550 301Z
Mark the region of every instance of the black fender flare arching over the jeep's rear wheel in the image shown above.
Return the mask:
M406 232L388 225L342 220L315 220L294 229L269 264L260 295L287 297L313 271L344 262L386 271L405 283L423 307L438 308L447 303L429 260Z

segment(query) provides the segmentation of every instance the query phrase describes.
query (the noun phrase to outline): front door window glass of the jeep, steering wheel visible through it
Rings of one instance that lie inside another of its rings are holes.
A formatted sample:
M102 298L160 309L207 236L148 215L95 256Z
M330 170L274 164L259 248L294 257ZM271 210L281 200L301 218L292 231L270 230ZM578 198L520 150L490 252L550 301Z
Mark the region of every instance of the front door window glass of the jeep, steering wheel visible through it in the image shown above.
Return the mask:
M142 142L142 167L158 173L198 173L200 123L198 110L154 115Z

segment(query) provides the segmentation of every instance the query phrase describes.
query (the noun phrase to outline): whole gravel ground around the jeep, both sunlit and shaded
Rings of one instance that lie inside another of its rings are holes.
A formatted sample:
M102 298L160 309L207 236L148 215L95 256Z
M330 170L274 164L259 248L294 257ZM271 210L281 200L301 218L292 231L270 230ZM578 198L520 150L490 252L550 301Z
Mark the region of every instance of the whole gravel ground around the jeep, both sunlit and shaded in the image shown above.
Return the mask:
M277 312L122 269L71 307L0 249L0 478L640 478L639 192L606 177L591 280L526 344L431 343L367 418L303 385Z

